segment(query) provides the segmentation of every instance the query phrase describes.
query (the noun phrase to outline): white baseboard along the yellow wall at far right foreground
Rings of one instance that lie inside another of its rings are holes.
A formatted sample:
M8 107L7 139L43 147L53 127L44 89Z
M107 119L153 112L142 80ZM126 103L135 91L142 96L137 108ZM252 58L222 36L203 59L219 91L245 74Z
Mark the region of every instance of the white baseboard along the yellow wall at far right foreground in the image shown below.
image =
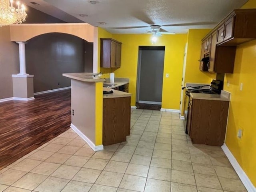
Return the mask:
M236 161L236 158L230 152L230 150L228 149L226 144L224 143L221 146L221 148L224 151L224 153L226 154L228 160L230 161L231 165L233 166L234 170L238 174L240 180L242 181L242 183L244 184L244 186L248 190L248 192L256 192L256 188L254 187L254 185L252 184L252 182L250 181L250 179L248 178L248 176L246 175L244 170L241 168L239 163Z

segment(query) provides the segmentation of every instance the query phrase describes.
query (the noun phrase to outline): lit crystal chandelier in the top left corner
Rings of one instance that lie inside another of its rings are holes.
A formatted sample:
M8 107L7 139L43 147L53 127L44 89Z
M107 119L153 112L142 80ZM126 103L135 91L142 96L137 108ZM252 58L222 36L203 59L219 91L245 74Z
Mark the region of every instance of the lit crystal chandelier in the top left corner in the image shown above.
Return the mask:
M22 23L27 17L24 4L17 1L15 7L13 0L0 0L0 26Z

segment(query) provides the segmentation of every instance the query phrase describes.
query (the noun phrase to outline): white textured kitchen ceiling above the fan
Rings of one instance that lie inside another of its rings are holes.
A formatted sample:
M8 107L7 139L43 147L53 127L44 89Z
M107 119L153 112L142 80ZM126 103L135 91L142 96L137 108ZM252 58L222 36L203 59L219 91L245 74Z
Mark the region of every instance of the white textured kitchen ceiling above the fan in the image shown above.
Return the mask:
M213 28L229 12L240 8L248 0L96 0L97 4L90 4L90 0L25 1L38 2L40 6L34 8L39 10L40 7L42 12L49 9L44 8L42 2L48 7L51 5L52 10L46 13L57 18L60 18L58 12L66 12L111 33L129 34L145 33L152 24L161 25L163 31L176 33L186 33L191 28ZM81 17L79 14L88 16Z

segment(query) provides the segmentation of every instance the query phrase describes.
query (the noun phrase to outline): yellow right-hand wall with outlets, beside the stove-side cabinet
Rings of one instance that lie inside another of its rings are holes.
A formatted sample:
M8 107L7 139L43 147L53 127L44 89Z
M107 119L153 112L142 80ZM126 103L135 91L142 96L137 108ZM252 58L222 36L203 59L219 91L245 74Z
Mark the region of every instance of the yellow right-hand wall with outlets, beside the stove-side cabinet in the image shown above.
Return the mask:
M256 8L256 1L250 0L242 8ZM243 83L242 91L240 91L240 83ZM226 74L224 80L224 89L231 92L226 145L254 186L256 186L255 84L256 40L236 48L234 73ZM238 129L243 130L241 140L237 137Z

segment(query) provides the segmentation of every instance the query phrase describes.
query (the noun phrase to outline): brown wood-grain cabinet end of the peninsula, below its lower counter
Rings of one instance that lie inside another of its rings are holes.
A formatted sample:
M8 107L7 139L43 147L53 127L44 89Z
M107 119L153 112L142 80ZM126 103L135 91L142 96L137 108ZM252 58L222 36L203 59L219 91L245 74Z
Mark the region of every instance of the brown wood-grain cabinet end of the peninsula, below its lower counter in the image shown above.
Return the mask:
M131 97L103 99L103 145L126 141L130 135Z

